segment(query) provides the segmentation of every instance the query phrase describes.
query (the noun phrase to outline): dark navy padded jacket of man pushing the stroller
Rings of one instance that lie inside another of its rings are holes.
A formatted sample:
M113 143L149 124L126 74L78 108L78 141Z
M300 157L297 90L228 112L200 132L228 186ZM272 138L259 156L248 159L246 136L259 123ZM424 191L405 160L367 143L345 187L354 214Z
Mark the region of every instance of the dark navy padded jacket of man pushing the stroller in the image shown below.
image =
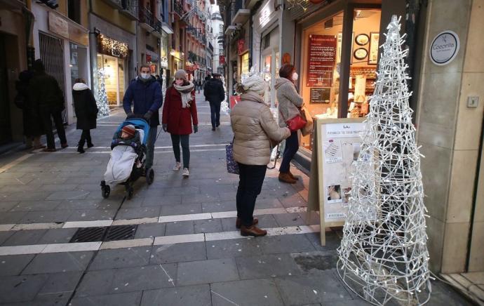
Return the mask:
M133 110L131 110L131 102L134 104ZM149 110L153 112L152 118L149 120L149 126L160 125L159 108L162 104L163 94L161 93L161 86L154 76L148 81L141 81L140 77L137 76L131 81L128 90L124 93L123 108L126 114L133 112L143 115Z

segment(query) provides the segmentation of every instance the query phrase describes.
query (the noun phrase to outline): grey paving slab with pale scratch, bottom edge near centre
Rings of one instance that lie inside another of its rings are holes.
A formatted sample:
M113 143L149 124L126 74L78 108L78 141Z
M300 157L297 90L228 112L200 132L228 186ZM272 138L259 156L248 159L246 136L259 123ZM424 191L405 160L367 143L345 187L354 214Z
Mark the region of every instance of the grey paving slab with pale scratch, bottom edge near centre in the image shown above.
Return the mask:
M229 281L210 285L213 306L283 305L276 284L271 279Z

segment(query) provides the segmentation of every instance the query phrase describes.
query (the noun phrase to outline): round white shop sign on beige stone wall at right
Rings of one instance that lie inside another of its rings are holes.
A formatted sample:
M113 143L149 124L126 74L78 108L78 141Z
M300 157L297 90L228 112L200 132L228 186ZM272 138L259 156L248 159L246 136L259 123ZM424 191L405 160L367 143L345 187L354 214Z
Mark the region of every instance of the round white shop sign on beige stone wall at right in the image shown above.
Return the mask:
M432 41L430 59L435 65L447 65L457 56L459 46L459 36L455 32L441 32Z

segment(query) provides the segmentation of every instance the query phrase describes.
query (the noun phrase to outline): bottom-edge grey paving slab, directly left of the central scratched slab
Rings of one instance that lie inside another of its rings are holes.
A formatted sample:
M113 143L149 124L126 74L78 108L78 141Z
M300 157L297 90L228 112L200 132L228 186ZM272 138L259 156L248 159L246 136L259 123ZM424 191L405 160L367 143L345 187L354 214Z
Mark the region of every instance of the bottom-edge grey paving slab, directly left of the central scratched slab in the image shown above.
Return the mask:
M210 306L210 286L183 286L143 292L142 306Z

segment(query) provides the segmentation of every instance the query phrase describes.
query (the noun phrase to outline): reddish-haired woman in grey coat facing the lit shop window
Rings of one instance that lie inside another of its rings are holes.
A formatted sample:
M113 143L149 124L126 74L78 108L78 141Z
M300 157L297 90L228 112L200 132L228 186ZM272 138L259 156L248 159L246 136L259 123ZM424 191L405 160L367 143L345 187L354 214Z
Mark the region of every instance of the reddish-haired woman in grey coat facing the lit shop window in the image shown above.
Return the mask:
M277 99L279 101L279 126L285 127L285 120L291 119L300 114L302 107L302 97L297 93L294 82L297 81L296 69L293 65L285 64L279 69L280 78L276 79ZM297 131L291 132L288 139L285 140L285 148L281 167L279 168L279 180L294 184L298 178L290 172L290 161L293 160L299 149L299 139Z

